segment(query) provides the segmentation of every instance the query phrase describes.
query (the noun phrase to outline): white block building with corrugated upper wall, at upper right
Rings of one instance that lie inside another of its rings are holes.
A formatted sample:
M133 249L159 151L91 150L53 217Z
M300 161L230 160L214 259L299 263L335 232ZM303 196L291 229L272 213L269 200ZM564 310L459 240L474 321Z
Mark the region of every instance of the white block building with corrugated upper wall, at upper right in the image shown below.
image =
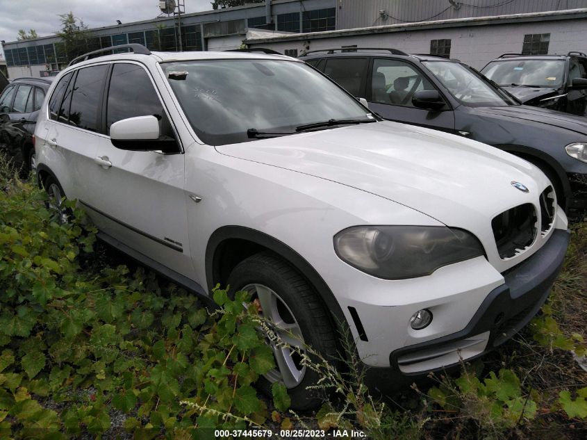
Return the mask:
M338 0L334 31L256 35L282 54L392 47L458 58L481 69L505 53L587 52L587 0Z

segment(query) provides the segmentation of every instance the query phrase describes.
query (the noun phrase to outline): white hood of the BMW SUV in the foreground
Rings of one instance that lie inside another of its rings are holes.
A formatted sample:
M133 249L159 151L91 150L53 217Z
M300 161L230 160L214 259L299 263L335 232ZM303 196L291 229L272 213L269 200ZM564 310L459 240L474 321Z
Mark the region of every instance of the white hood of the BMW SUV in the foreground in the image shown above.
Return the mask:
M486 227L498 213L535 201L547 186L533 165L488 145L431 129L376 122L216 147L367 191L445 225ZM529 188L514 188L518 181Z

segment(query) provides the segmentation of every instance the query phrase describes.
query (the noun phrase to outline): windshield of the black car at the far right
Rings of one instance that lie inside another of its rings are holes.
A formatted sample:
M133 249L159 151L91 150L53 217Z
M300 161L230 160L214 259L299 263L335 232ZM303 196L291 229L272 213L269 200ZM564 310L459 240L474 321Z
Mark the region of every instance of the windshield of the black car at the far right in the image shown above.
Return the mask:
M504 87L559 88L565 74L564 60L499 60L483 67L483 75Z

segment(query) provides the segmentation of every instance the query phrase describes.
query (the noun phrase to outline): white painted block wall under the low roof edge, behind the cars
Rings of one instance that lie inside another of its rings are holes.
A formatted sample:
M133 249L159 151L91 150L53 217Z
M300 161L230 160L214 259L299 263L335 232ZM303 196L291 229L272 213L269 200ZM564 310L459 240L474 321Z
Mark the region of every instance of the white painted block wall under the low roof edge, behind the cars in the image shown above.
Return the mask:
M449 38L452 58L481 69L501 54L521 53L527 33L550 33L549 54L567 54L572 50L587 52L587 19L349 35L309 40L309 47L317 50L357 44L358 47L392 47L408 54L429 54L430 40ZM307 41L279 40L258 44L249 40L248 43L249 47L266 47L281 54L285 49L298 49L300 53L308 45Z

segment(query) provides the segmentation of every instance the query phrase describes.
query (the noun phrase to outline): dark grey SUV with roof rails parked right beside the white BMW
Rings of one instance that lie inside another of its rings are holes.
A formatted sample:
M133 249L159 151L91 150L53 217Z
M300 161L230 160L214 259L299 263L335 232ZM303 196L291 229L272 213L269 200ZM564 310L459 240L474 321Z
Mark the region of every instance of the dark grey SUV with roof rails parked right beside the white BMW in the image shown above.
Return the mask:
M572 217L587 208L587 120L521 105L458 60L397 49L330 49L301 57L372 111L465 136L537 165Z

